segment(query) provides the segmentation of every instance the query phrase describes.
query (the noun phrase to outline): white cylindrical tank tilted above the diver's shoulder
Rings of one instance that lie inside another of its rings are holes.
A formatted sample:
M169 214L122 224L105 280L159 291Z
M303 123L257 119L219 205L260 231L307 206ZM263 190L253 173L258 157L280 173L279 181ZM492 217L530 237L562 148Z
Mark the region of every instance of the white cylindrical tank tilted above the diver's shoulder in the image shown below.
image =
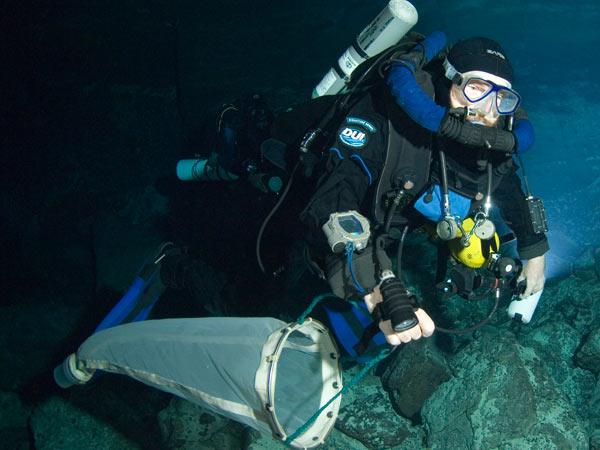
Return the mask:
M419 14L406 0L391 0L357 36L313 90L312 97L341 92L362 62L395 45L417 23Z

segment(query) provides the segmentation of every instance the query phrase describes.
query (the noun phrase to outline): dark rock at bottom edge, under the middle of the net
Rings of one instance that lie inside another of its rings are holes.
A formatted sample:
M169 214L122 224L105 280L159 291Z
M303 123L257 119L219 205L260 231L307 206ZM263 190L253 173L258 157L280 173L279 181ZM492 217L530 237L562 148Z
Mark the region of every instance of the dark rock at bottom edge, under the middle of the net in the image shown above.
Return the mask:
M163 447L174 450L241 448L245 428L180 398L158 414L158 422Z

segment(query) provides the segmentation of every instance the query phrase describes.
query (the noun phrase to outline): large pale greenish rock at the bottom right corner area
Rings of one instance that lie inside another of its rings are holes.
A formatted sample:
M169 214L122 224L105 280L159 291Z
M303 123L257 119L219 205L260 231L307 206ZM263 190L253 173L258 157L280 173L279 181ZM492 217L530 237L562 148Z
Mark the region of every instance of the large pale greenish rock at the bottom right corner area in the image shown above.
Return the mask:
M451 361L422 410L431 450L587 449L588 436L532 348L490 327Z

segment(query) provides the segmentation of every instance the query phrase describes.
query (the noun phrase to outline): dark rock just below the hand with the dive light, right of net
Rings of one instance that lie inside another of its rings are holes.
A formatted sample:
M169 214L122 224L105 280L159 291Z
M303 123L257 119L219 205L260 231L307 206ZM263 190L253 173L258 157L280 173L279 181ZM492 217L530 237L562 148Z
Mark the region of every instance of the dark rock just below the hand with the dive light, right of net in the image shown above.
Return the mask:
M381 382L394 410L419 420L425 400L452 376L446 358L433 339L421 339L398 348L390 357Z

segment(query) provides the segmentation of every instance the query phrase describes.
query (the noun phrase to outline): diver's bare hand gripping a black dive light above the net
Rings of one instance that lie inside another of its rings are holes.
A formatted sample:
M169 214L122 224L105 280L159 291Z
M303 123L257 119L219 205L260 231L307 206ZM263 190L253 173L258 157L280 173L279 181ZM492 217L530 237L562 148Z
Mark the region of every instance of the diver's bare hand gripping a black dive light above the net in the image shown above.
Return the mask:
M391 345L433 334L435 325L429 315L419 308L416 297L393 276L384 278L371 294L365 296L365 303Z

